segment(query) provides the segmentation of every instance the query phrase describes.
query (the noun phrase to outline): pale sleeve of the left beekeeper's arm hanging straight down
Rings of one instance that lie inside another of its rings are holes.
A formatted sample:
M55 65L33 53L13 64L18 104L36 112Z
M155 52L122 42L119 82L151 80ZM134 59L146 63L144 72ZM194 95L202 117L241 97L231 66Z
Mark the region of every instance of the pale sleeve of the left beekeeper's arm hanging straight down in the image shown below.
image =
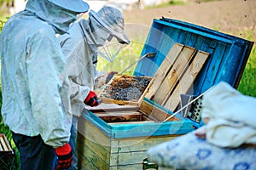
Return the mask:
M39 133L45 144L56 148L68 142L72 122L61 101L65 58L55 34L50 33L35 34L27 45L26 71Z

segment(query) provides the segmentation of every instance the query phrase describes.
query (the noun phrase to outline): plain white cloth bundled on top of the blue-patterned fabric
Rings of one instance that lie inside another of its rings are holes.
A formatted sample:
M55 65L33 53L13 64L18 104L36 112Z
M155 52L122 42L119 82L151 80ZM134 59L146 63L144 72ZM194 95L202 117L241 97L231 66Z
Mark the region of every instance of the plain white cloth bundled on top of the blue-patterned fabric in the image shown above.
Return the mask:
M204 95L202 105L202 118L209 118L209 143L220 147L256 144L256 98L220 82Z

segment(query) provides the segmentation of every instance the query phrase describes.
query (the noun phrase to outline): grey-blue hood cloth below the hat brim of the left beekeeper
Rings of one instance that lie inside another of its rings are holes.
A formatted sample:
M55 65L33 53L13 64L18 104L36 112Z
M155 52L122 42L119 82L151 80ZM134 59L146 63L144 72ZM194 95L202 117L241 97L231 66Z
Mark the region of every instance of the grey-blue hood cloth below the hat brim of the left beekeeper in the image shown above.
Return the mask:
M48 0L28 0L25 10L54 26L55 32L59 34L67 32L70 24L77 19L77 14L79 14L79 12L62 8Z

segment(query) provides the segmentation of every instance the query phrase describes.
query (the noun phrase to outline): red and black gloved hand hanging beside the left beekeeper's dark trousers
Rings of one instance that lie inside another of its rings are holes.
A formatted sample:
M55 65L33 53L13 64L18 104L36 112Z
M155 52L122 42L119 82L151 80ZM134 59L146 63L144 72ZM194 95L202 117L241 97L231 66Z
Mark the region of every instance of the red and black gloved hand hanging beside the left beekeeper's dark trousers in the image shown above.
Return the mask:
M67 143L61 147L55 148L58 157L58 165L55 170L67 169L73 163L73 153L71 146Z

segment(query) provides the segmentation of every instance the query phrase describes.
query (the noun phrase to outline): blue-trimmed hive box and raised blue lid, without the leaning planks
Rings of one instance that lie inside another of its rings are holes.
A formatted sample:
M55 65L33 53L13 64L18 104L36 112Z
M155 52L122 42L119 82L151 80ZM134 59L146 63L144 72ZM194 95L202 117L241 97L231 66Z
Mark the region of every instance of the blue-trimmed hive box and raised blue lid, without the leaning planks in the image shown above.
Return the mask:
M134 76L153 77L176 42L210 54L193 83L194 95L221 81L237 87L253 46L253 42L182 21L154 20L141 56L157 54L139 61ZM172 114L150 99L143 101L160 113ZM171 122L108 123L84 110L79 119L79 167L142 169L148 148L195 129L195 122L189 119L178 115L174 119Z

